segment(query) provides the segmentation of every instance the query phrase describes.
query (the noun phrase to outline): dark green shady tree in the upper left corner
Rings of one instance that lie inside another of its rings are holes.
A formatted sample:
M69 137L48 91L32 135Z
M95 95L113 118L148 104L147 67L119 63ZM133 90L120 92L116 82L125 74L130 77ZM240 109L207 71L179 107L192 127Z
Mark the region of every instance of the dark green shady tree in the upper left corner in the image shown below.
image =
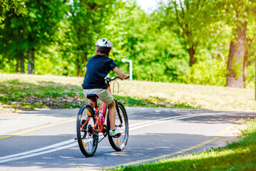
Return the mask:
M26 56L28 72L34 73L35 53L41 46L49 45L54 40L56 26L63 19L61 10L64 3L65 1L58 0L29 0L26 1L26 8L29 11L27 16L6 16L6 27L0 31L4 46L0 48L6 51L6 58L12 56L16 59L16 67L19 67L18 63L21 62L21 72Z

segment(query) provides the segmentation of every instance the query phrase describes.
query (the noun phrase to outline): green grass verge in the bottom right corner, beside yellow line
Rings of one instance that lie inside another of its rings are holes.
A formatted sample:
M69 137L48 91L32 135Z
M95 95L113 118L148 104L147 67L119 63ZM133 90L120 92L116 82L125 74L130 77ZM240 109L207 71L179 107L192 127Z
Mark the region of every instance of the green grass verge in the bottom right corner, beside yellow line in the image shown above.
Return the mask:
M227 147L114 170L256 170L256 119L240 131L242 140Z

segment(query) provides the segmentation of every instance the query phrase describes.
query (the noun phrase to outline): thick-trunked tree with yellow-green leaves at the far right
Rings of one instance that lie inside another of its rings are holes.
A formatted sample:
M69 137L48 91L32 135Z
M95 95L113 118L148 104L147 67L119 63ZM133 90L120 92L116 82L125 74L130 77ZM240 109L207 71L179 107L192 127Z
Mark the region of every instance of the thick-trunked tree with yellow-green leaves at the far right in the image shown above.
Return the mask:
M255 20L255 6L253 0L217 1L218 15L233 27L226 86L237 88L243 86L247 25Z

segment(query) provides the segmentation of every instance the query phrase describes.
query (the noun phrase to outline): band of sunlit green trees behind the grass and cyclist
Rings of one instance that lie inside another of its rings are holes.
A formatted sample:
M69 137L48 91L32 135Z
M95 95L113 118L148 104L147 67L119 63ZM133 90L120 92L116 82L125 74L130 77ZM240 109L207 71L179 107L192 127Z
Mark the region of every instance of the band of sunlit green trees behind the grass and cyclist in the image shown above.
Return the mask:
M133 79L247 87L255 83L255 0L0 0L0 73L84 76L94 43Z

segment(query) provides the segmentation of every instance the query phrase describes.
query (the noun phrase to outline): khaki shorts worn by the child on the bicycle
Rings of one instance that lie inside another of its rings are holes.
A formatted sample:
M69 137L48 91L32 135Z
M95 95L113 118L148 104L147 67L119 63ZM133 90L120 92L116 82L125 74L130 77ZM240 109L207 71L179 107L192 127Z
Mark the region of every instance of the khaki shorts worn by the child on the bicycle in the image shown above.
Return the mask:
M103 101L103 103L106 103L106 105L110 105L114 100L113 95L111 95L111 93L109 92L108 89L100 89L100 88L83 89L83 94L85 96L87 96L88 94L96 94L96 95L98 95L98 98L101 101Z

